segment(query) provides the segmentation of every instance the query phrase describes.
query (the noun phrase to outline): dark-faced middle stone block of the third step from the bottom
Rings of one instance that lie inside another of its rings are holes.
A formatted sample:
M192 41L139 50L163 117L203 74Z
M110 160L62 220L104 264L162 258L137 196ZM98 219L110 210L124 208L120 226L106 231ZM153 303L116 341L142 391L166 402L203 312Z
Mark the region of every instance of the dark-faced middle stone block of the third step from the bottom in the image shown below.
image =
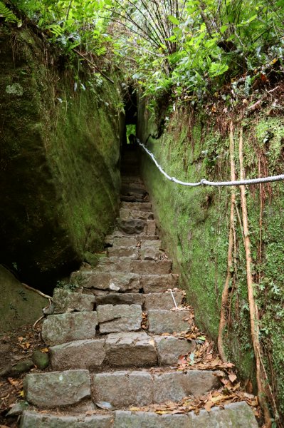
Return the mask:
M110 367L152 367L157 365L154 339L145 332L113 333L105 340Z

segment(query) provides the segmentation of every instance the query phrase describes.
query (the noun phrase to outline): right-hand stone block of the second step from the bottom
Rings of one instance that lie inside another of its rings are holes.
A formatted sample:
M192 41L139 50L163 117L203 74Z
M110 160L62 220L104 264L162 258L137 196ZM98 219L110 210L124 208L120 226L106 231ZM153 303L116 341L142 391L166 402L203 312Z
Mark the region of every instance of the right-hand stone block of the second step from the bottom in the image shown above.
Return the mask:
M206 394L219 387L217 377L207 370L153 374L153 378L154 403L178 402L183 397Z

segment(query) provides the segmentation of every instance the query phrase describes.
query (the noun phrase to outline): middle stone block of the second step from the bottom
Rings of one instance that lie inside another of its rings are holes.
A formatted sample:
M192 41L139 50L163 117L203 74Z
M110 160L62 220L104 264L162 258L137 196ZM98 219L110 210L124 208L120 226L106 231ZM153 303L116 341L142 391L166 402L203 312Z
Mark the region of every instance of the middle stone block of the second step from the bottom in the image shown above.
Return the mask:
M153 402L152 376L148 372L114 372L93 375L94 402L110 402L115 407L146 405Z

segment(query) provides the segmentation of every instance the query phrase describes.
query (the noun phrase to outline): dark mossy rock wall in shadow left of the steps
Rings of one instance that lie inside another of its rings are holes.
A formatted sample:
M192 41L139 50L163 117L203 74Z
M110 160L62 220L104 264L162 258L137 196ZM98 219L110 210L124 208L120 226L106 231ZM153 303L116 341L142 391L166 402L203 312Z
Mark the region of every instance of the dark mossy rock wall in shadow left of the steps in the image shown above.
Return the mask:
M28 29L1 29L0 69L0 258L42 287L100 250L117 214L122 97Z

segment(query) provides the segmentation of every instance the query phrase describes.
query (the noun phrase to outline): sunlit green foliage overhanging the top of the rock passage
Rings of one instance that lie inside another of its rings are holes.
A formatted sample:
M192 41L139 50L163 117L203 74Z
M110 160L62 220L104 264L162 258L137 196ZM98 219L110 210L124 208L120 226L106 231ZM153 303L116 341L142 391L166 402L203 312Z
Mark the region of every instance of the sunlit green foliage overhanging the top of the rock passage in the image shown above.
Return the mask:
M246 93L283 57L284 0L1 0L0 15L28 16L65 52L111 55L148 95L198 100L239 78Z

